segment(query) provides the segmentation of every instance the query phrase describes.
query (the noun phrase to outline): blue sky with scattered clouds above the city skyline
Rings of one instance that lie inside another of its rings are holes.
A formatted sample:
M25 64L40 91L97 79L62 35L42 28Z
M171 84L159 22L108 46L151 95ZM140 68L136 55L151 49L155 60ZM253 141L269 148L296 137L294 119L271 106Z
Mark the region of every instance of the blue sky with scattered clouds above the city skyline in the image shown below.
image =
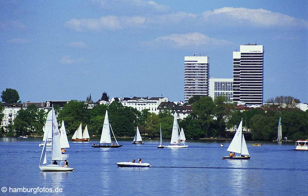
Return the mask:
M232 78L232 52L264 45L264 100L308 102L307 1L2 1L0 90L22 101L161 94L184 100L184 56Z

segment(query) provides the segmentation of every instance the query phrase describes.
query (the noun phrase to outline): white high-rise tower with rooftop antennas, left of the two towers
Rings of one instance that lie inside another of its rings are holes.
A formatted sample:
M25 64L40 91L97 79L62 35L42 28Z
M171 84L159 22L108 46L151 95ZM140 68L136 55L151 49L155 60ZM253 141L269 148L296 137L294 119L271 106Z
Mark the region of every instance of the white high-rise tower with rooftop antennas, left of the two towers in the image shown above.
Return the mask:
M209 57L200 54L184 57L184 102L194 95L209 95Z

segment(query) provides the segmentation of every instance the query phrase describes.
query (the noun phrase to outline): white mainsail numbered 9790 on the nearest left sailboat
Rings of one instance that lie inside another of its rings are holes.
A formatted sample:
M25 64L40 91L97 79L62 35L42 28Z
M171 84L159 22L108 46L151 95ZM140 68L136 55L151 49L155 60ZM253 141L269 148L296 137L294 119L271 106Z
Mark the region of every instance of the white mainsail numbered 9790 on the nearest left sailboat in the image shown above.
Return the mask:
M60 144L60 131L58 128L58 122L55 114L55 110L51 110L53 113L53 127L52 127L52 143L51 143L51 160L63 160Z

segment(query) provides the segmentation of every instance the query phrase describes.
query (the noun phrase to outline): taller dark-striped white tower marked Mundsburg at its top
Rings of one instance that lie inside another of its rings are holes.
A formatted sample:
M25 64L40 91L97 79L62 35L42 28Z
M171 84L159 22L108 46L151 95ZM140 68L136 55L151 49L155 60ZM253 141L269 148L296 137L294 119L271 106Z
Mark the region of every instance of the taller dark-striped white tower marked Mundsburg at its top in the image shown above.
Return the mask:
M233 102L263 103L264 46L246 44L233 52Z

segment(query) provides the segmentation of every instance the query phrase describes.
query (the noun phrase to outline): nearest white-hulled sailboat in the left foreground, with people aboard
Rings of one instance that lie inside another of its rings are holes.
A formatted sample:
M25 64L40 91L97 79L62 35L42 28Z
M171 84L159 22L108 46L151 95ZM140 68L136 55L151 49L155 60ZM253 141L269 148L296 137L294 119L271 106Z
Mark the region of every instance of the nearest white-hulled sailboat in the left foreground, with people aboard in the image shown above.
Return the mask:
M39 161L39 168L42 171L74 171L74 168L71 167L63 167L61 166L61 161L63 161L62 154L61 154L61 144L60 144L60 131L58 128L58 122L56 118L56 114L54 108L52 107L51 111L49 111L46 120L46 131L47 134L51 133L51 164L47 164L46 161L46 143L47 139L45 140L44 147L42 150L41 158ZM58 165L52 164L53 161L58 161Z

